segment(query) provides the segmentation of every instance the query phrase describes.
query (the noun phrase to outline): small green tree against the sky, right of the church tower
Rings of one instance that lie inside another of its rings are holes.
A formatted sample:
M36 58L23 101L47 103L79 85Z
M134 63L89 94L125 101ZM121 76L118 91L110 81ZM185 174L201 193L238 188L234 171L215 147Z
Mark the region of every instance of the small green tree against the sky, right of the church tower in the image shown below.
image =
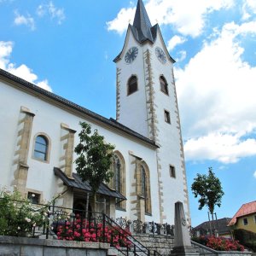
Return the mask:
M212 167L208 168L208 175L197 173L197 177L194 178L191 189L195 198L200 196L198 209L201 210L203 207L207 206L213 221L214 208L215 206L221 206L224 191L218 177L215 177L214 172L212 172Z

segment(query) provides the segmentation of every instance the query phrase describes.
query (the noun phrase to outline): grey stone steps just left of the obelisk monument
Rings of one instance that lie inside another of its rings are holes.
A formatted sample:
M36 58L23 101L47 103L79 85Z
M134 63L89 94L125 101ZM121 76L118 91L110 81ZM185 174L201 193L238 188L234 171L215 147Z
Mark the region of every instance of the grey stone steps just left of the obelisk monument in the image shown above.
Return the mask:
M150 255L155 255L154 250L159 253L158 255L171 255L174 237L165 235L151 235L151 234L138 234L134 235L137 241L140 241L144 247L150 250Z

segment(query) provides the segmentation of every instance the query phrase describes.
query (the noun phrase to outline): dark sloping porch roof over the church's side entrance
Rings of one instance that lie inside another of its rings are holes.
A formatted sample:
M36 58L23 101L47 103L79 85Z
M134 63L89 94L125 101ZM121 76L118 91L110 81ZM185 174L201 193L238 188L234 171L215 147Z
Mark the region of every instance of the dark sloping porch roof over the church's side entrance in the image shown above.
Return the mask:
M84 190L86 192L91 191L90 184L87 181L83 182L77 173L73 172L73 178L70 178L67 177L67 175L64 172L62 172L60 168L54 167L54 172L55 176L60 177L67 187ZM118 198L122 201L126 200L125 196L120 194L119 191L108 188L108 186L104 183L101 183L97 191L97 194L108 195L114 198Z

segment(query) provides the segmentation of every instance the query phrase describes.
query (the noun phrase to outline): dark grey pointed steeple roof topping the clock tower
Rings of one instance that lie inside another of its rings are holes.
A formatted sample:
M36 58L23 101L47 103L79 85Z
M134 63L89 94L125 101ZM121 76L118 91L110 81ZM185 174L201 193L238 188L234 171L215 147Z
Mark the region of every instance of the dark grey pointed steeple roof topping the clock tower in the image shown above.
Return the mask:
M153 43L155 40L156 27L151 25L143 0L137 1L136 14L131 30L139 43L143 43L146 40Z

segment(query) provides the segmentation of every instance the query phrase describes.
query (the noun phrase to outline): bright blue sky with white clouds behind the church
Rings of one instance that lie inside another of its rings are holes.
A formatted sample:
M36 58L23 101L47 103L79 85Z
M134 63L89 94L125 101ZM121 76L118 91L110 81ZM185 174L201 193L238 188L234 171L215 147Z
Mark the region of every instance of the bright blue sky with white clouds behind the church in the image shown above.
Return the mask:
M256 1L144 3L177 61L189 188L212 166L225 192L218 218L233 217L256 200ZM0 68L114 118L113 58L136 4L0 0ZM189 199L195 226L207 220L207 209L197 209L191 191Z

